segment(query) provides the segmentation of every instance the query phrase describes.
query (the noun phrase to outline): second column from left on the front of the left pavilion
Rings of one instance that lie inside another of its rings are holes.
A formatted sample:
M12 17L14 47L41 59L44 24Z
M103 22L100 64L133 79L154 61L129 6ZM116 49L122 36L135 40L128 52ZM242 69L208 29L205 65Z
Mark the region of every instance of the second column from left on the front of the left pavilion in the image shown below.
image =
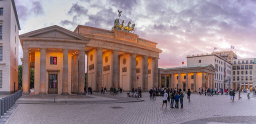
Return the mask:
M46 89L46 64L45 64L46 48L40 49L40 94L45 94Z

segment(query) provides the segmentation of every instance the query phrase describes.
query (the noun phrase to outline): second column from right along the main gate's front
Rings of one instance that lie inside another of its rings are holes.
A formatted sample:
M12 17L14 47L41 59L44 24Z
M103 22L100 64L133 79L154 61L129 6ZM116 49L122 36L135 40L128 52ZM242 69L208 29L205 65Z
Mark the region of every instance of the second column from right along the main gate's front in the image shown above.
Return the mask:
M144 65L143 65L143 88L144 91L148 91L149 87L148 87L148 56L143 56L143 61L144 61Z

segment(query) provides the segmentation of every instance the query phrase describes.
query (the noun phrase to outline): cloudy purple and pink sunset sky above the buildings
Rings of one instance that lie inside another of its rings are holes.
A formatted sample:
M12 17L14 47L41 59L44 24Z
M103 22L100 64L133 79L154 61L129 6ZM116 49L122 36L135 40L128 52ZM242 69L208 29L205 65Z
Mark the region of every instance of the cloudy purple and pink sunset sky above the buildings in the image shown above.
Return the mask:
M120 19L157 42L160 67L181 66L186 55L235 46L239 58L256 57L256 0L15 0L20 34L59 25L111 29ZM22 56L21 47L20 56ZM21 62L20 62L21 63Z

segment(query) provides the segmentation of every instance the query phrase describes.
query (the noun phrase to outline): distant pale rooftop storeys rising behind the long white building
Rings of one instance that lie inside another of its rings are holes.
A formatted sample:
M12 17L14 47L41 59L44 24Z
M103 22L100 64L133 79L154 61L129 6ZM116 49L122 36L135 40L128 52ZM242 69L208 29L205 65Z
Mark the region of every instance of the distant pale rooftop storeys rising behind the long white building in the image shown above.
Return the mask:
M232 63L233 59L237 59L237 55L235 52L232 50L230 51L217 51L217 52L212 52L212 54L216 54L217 56L220 56L227 60L229 63Z

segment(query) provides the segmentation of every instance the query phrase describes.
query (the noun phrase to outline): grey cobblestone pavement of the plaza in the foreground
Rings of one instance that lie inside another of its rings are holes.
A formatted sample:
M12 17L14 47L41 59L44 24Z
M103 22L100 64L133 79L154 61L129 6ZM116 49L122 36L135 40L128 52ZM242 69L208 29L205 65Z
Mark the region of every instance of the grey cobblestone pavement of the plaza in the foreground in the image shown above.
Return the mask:
M245 93L241 100L236 95L233 103L228 95L197 94L191 95L189 103L185 95L183 109L172 109L169 102L168 108L161 108L162 96L150 100L148 92L145 95L145 101L130 103L20 104L7 123L256 123L256 119L245 121L256 115L256 98L247 99ZM239 117L227 121L233 118L225 116Z

